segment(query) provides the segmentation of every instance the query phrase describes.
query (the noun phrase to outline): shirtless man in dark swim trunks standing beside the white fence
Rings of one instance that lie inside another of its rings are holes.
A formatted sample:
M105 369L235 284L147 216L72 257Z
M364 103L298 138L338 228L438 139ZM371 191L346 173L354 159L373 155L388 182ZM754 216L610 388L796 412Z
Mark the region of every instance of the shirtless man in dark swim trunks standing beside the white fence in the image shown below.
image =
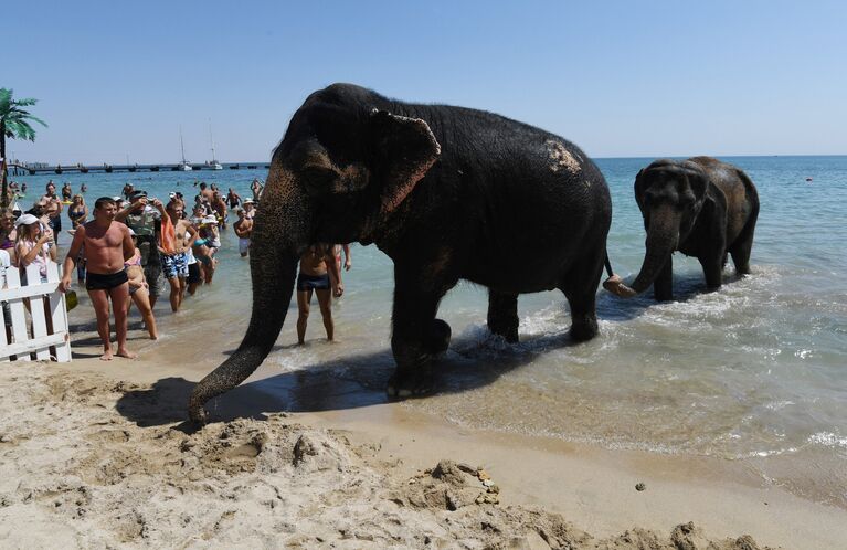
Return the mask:
M129 283L124 271L124 262L135 254L135 245L129 236L129 228L116 223L117 207L108 197L102 197L94 203L94 220L80 225L74 233L71 248L65 257L64 275L59 284L61 292L71 288L71 275L74 273L76 256L85 246L85 261L88 269L85 288L97 314L97 334L103 341L103 361L112 360L109 341L109 299L115 311L115 332L118 340L117 355L134 359L135 353L127 350L127 298Z

